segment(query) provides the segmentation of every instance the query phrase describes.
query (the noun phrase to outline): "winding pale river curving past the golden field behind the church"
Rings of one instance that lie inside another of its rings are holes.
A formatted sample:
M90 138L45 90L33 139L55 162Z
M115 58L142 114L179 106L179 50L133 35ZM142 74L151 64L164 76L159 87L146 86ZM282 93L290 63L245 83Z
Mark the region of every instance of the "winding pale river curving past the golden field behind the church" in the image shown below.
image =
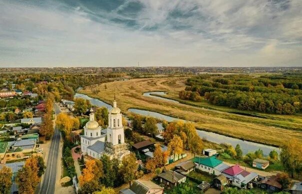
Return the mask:
M150 95L150 93L154 93L154 92L146 92L146 93L148 93L148 94L144 93L145 96L155 97L155 96ZM159 94L159 95L162 95L162 93L161 92L160 93L156 92L156 94ZM108 109L112 108L112 106L110 104L107 104L107 103L105 103L105 102L103 102L99 99L91 98L91 97L89 97L85 94L76 93L74 95L74 97L80 97L80 98L88 99L91 102L91 104L95 105L95 106L105 106ZM156 97L158 97L158 96L156 96ZM160 98L165 99L165 100L170 100L170 99L163 98L163 97L160 97ZM175 100L173 100L173 101L175 101ZM173 120L179 120L178 118L168 116L168 115L164 115L164 114L154 112L154 111L141 110L141 109L137 109L137 108L129 108L128 111L136 113L136 114L144 115L144 116L152 116L152 117L155 117L155 118L158 118L158 119L163 119L163 120L166 120L168 122L173 121ZM246 154L249 151L255 151L259 148L263 150L264 155L268 155L269 152L273 149L275 149L277 152L279 152L279 148L277 148L277 147L264 145L264 144L261 144L261 143L254 143L254 142L251 142L251 141L245 141L245 140L241 140L241 139L237 139L237 138L233 138L233 137L228 137L228 136L225 136L225 135L217 134L217 133L214 133L214 132L208 132L208 131L204 131L204 130L196 130L196 131L197 131L198 135L201 138L205 138L205 139L207 139L209 141L212 141L212 142L215 142L215 143L229 143L232 146L236 146L236 144L239 144L241 149L242 149L243 154Z

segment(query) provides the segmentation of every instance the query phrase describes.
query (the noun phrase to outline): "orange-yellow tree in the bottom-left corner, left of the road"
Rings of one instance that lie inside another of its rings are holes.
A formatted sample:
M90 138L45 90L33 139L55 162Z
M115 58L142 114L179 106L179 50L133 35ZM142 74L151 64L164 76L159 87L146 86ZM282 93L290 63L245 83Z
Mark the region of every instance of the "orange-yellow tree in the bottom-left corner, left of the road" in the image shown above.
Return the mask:
M10 187L12 184L11 177L12 177L11 168L4 165L0 169L0 193L3 194L10 193Z

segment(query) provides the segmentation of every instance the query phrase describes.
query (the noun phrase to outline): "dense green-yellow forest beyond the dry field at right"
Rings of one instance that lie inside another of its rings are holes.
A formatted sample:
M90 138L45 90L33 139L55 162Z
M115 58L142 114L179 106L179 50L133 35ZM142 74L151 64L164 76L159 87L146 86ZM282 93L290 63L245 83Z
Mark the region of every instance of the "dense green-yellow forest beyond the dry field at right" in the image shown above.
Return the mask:
M294 114L301 111L302 73L250 76L202 74L187 78L181 99L266 113Z

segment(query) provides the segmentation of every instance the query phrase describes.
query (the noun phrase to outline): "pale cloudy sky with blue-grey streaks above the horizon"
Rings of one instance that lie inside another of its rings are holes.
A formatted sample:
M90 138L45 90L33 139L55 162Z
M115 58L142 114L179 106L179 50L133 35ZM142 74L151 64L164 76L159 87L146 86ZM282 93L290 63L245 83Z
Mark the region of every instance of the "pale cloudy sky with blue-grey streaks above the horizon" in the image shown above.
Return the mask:
M302 66L302 0L0 0L0 67Z

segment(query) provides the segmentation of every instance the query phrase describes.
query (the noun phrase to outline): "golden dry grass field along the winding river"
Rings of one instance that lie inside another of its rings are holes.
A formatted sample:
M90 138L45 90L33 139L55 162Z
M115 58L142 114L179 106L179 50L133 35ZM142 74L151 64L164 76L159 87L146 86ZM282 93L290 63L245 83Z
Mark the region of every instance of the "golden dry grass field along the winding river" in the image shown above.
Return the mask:
M264 118L245 116L227 112L225 107L212 106L206 102L174 103L142 95L147 91L167 91L167 97L177 99L178 91L185 87L185 79L186 77L129 79L86 87L79 92L112 104L115 90L118 107L126 114L130 114L127 111L128 108L156 111L193 121L196 123L196 127L204 130L240 139L271 145L281 145L289 138L302 140L302 117L300 115L259 113ZM105 89L105 85L107 89ZM93 92L95 89L98 89L99 92ZM209 108L206 108L206 105Z

